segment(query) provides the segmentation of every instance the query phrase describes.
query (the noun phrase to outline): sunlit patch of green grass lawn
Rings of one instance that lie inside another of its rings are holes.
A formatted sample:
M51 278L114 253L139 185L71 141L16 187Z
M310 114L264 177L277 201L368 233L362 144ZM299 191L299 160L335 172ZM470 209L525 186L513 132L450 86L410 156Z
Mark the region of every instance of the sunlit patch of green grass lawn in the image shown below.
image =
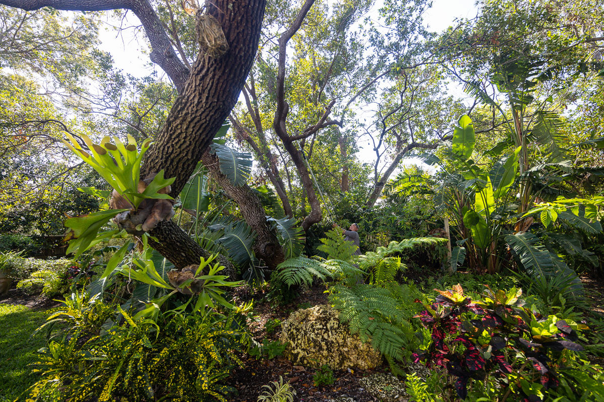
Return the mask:
M46 317L25 306L0 303L0 402L13 402L36 381L28 365L46 342L43 333L31 334Z

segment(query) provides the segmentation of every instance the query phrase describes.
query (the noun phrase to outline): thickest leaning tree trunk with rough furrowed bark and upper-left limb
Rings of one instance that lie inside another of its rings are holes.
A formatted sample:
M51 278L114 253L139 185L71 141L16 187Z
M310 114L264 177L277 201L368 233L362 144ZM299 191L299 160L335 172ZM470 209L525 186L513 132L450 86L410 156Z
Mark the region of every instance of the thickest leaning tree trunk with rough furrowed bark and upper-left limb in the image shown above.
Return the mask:
M165 177L176 177L170 195L177 196L237 102L258 48L266 0L208 1L207 12L218 20L229 49L220 58L200 54L190 71L174 52L148 0L0 0L0 4L24 10L124 8L137 15L153 48L152 61L164 69L180 93L147 153L141 177L164 169ZM174 222L161 222L151 234L158 239L153 247L181 268L199 263L204 254Z

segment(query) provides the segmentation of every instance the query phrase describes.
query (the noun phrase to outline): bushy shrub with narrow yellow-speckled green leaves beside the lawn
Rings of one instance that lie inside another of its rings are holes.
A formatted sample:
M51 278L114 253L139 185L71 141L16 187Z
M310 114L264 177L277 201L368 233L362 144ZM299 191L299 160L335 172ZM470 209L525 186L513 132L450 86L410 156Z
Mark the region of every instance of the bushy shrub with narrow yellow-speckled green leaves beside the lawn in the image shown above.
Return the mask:
M103 303L97 299L86 308L91 304L98 309ZM241 364L234 351L247 343L234 315L195 313L135 322L120 307L117 312L122 324L106 332L97 333L100 320L95 319L71 327L70 336L54 337L36 363L42 379L28 400L57 386L61 400L226 402L231 388L222 380Z

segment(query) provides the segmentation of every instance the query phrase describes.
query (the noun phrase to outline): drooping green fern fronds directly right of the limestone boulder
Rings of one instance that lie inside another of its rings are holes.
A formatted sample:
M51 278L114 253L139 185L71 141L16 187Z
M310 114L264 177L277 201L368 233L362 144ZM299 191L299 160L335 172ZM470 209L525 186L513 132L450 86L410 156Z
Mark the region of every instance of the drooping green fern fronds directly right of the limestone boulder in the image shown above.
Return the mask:
M411 356L417 340L411 317L417 310L414 300L421 294L413 286L390 283L386 287L356 284L333 286L330 303L339 310L340 321L348 322L351 333L371 342L371 347L384 355L395 373L397 361Z

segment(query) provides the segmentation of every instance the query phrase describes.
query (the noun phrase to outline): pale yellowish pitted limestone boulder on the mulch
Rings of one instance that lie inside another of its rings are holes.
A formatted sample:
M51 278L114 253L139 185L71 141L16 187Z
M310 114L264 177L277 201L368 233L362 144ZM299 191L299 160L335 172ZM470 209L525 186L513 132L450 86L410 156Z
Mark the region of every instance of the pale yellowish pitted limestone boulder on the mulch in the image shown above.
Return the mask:
M295 365L368 369L382 362L369 342L364 344L348 325L340 324L338 311L330 306L293 312L281 322L280 341L287 344L284 356Z

